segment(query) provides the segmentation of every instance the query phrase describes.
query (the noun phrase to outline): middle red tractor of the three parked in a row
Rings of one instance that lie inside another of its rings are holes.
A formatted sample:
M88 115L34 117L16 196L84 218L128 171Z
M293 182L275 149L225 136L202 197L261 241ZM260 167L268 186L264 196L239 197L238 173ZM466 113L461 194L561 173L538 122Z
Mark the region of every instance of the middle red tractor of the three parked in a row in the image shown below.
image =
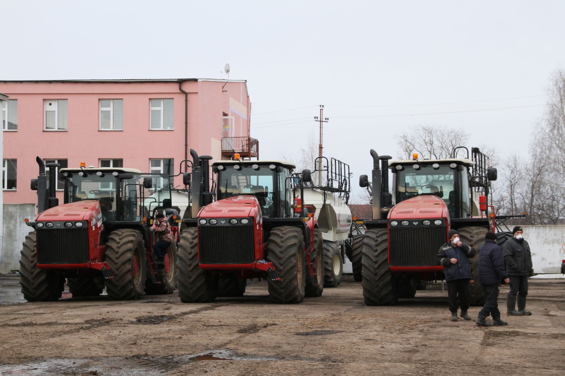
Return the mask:
M303 183L310 182L310 171L291 176L293 163L244 161L236 154L234 160L212 163L217 175L212 192L211 157L190 153L199 163L192 175L183 176L185 184L192 179L193 219L183 220L186 228L179 236L181 302L241 297L249 278L266 278L276 303L319 297L324 284L321 232L313 216L293 205L295 191L303 193Z

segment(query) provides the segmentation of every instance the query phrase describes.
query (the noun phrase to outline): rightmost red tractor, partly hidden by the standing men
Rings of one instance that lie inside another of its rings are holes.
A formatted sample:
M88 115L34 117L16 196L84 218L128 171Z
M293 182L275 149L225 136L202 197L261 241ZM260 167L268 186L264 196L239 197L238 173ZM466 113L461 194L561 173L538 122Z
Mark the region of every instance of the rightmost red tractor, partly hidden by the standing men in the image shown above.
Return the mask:
M457 158L457 150L467 150ZM488 205L490 182L497 170L486 166L488 157L472 148L458 147L445 160L393 161L371 150L372 184L367 175L359 185L372 196L372 219L364 220L367 231L353 250L362 254L363 297L367 305L396 304L398 298L412 298L426 282L444 279L444 267L436 263L447 232L458 229L461 241L477 250L471 259L473 281L471 303L482 305L485 297L478 283L478 251L489 228L496 231L494 207ZM381 166L379 168L379 160ZM389 193L388 170L392 170ZM501 219L510 216L501 216ZM498 232L502 245L509 232ZM354 266L355 270L355 266Z

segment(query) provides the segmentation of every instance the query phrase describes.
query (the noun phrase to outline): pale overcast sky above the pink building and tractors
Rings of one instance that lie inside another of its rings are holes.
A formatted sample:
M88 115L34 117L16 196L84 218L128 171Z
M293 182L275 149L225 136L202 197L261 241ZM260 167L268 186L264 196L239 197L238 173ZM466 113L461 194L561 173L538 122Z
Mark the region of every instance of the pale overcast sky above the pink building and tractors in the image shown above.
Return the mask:
M2 2L0 78L225 78L229 63L262 158L298 156L324 104L324 153L357 182L371 148L397 156L395 135L422 123L526 156L565 65L563 14L562 1Z

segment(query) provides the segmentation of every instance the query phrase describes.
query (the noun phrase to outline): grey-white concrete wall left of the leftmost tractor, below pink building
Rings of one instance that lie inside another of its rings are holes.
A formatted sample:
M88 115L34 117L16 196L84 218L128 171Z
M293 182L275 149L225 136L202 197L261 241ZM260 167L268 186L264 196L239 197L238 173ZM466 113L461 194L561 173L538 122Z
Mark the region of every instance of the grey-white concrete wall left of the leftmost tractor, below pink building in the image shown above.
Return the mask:
M33 228L25 224L24 219L35 220L35 204L4 204L3 205L3 247L1 273L20 269L21 243Z

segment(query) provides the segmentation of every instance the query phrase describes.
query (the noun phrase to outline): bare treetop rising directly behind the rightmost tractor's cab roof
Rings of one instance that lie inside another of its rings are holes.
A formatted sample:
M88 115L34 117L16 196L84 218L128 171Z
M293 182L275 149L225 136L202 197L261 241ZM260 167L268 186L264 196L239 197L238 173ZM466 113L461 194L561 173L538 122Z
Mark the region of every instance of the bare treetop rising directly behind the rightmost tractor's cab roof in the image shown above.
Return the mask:
M412 153L430 159L450 158L455 147L464 145L469 134L462 129L421 124L396 135L399 158L410 160Z

